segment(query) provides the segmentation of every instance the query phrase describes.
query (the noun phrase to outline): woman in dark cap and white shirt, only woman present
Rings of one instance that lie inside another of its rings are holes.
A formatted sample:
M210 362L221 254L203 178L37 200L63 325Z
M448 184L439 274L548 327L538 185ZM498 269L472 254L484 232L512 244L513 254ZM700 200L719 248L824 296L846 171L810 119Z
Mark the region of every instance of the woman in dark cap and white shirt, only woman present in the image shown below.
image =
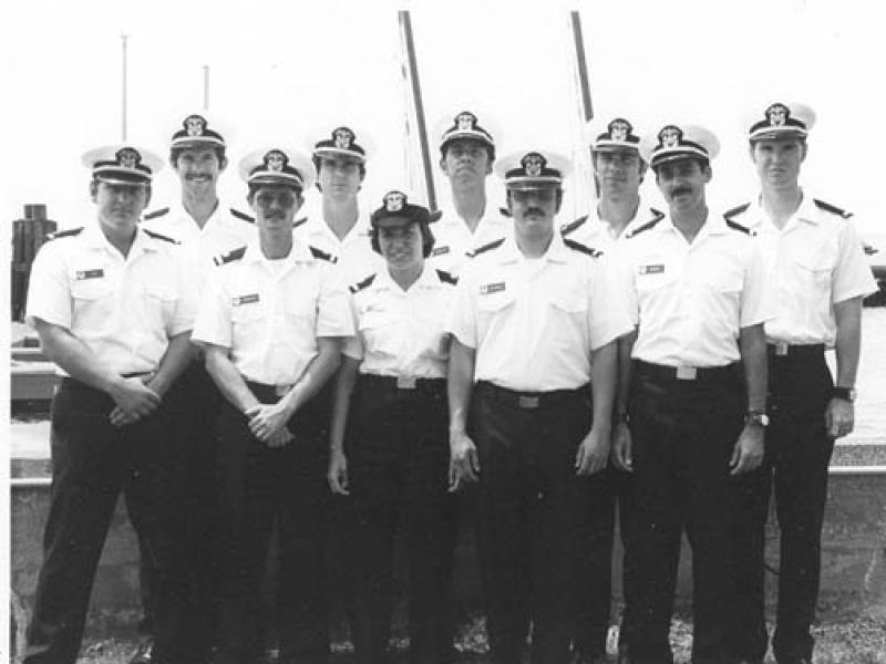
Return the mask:
M357 336L336 385L329 485L350 496L354 527L352 639L361 664L389 661L392 559L401 512L409 564L410 660L450 650L446 594L451 538L444 332L455 279L425 267L432 215L400 191L371 217L385 268L350 288Z

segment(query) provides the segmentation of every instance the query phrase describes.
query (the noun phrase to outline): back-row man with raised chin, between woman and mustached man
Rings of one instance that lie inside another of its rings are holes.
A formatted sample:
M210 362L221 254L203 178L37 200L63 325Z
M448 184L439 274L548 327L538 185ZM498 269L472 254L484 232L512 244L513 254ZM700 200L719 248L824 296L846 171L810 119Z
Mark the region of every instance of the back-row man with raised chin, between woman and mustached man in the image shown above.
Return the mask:
M440 167L450 180L452 207L434 225L434 267L457 276L474 250L513 235L511 219L486 199L494 162L495 138L474 113L462 111L445 125Z

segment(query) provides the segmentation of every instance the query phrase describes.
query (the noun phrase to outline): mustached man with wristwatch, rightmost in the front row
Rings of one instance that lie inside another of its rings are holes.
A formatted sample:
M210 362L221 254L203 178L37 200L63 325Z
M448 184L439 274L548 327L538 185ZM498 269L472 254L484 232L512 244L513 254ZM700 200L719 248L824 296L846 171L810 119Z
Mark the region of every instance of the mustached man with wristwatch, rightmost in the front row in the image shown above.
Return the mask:
M669 644L683 529L692 547L692 662L729 661L727 507L731 481L763 460L772 318L763 260L746 228L705 199L717 137L669 124L641 145L668 215L635 227L622 253L637 332L619 349L612 461L631 579L619 662L672 662Z

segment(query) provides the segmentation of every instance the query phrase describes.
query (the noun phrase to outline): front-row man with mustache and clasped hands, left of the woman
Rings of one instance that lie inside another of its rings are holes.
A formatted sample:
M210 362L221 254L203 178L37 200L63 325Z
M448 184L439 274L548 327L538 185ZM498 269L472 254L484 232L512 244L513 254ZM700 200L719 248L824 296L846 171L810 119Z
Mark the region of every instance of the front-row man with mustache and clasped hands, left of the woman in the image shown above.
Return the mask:
M260 584L275 523L281 662L326 662L323 540L328 391L342 338L353 335L331 257L296 241L295 215L315 179L310 159L270 147L244 157L258 239L220 259L194 342L224 401L215 471L220 572L216 664L253 664L264 651Z

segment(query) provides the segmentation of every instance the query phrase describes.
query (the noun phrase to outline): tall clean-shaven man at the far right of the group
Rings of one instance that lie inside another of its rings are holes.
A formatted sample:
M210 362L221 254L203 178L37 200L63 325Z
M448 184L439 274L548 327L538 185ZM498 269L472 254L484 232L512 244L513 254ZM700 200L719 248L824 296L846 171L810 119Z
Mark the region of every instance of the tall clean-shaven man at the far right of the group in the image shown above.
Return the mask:
M766 653L765 522L774 478L781 529L779 609L772 650L780 664L812 661L827 466L834 439L855 424L862 299L876 290L852 215L800 186L815 114L775 102L749 122L750 155L761 194L727 212L755 235L777 301L766 321L770 416L766 463L736 494L734 582L740 591L734 654ZM836 381L824 359L836 351Z

